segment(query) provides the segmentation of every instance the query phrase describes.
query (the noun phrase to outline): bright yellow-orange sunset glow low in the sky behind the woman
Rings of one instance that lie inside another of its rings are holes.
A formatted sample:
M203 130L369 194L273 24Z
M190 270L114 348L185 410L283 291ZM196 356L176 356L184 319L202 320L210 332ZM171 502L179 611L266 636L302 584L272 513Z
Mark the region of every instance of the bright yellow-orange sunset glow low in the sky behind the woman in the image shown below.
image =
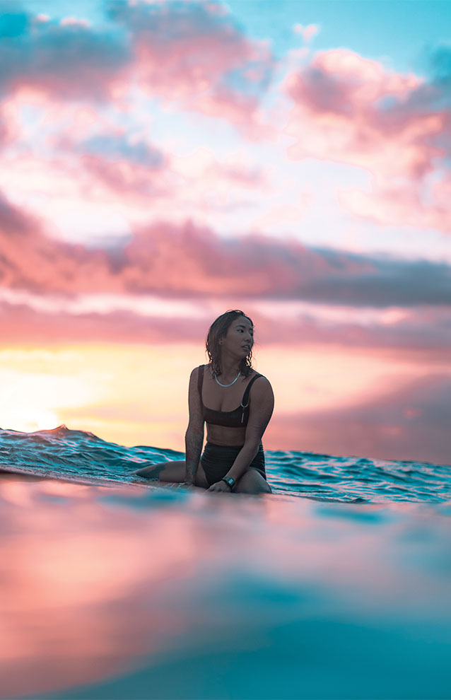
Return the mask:
M122 445L184 452L189 373L205 362L201 342L0 350L0 426L33 432L65 424ZM254 368L273 386L275 415L293 416L366 403L428 373L402 353L331 345L262 347ZM286 442L274 423L267 449Z

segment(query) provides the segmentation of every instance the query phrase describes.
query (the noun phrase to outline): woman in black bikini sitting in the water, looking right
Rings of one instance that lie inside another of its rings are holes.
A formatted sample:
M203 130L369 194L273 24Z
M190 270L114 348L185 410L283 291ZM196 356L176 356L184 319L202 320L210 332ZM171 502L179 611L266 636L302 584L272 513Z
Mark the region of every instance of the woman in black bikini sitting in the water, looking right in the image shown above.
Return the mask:
M266 377L252 369L253 344L254 325L242 311L228 311L212 323L206 339L210 362L194 368L189 378L186 460L151 465L135 474L208 491L271 494L262 436L274 394Z

